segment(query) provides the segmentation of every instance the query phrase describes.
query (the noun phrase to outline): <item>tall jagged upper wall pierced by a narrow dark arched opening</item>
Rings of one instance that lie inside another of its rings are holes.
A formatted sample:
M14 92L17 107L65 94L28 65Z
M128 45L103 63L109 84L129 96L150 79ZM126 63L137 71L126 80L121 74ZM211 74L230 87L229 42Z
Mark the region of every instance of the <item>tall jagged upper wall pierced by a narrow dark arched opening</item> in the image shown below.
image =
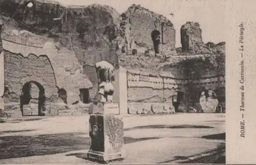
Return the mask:
M137 48L138 51L144 53L150 47L150 50L153 51L152 32L157 31L160 34L161 49L170 52L175 50L174 26L163 15L156 14L139 5L132 5L122 14L122 20L123 34L129 48Z

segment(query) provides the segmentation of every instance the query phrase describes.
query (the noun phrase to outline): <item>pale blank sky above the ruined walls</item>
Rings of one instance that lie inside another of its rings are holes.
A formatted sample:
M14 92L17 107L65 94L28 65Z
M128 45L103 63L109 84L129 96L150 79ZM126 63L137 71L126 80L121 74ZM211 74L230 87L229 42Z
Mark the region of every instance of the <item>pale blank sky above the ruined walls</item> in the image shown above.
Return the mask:
M102 4L122 13L132 4L141 5L157 14L166 16L176 29L176 47L181 46L180 28L186 22L198 22L203 42L225 42L225 3L222 0L55 0L63 5ZM174 16L169 15L174 13Z

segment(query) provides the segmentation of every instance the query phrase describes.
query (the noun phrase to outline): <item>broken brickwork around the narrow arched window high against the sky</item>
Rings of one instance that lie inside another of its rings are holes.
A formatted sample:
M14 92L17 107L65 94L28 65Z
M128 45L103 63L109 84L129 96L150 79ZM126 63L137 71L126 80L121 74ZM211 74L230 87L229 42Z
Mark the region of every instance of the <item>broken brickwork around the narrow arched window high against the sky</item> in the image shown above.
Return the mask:
M164 16L149 11L143 7L132 5L125 15L130 18L131 33L134 41L140 47L151 47L153 49L153 41L151 33L155 28L162 32L163 25L163 45L165 50L175 50L176 31L173 24Z

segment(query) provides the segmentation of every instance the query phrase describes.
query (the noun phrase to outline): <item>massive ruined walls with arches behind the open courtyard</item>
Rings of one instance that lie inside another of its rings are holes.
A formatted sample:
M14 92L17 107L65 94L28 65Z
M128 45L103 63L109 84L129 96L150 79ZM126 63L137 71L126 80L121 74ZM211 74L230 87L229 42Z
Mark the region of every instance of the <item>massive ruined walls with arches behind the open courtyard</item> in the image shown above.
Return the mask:
M131 114L225 112L225 43L203 43L199 23L181 27L175 48L172 22L139 5L120 14L98 4L4 0L0 10L0 108L13 117L89 113L100 61L118 70L113 102Z

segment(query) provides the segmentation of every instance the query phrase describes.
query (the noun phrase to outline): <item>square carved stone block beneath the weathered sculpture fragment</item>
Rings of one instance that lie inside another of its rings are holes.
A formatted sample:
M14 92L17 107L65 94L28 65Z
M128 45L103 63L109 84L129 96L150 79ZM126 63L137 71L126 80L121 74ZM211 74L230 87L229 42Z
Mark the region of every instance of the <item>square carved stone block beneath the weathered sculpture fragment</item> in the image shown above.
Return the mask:
M123 159L123 120L113 114L90 115L91 147L88 158L108 162Z

